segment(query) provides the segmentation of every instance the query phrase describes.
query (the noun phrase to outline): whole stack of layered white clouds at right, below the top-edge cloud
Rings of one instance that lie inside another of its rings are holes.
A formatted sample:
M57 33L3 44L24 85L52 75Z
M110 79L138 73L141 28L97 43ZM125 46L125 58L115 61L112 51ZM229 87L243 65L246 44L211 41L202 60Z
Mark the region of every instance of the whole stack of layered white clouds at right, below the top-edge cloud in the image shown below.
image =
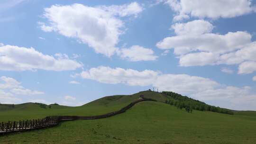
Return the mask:
M252 36L246 31L214 34L213 28L205 20L176 23L171 28L176 36L166 37L156 46L174 49L180 66L238 64L239 74L255 72L256 42L251 42Z

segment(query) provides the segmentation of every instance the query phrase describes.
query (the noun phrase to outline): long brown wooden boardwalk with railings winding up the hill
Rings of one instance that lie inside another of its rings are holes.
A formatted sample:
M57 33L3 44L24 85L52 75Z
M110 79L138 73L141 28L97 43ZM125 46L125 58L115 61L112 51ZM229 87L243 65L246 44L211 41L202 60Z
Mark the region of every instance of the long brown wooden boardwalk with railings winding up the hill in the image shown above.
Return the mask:
M36 129L42 129L52 126L57 126L59 123L63 121L70 121L70 120L89 120L89 119L99 119L99 118L106 118L106 117L112 117L121 113L124 113L129 108L133 107L135 104L142 102L142 101L156 101L154 99L138 99L124 108L121 108L118 111L110 112L104 115L99 116L48 116L42 119L32 119L32 120L26 120L26 121L13 121L0 123L0 136L1 135L7 135L10 133L16 133L16 132L25 132L30 130L36 130Z

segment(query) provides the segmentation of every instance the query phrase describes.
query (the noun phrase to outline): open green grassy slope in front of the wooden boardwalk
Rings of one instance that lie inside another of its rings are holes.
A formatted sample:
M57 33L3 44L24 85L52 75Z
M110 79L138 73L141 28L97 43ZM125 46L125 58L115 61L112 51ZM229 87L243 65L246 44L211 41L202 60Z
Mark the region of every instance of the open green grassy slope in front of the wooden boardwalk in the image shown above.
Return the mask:
M95 102L100 101L90 105ZM114 117L69 121L3 136L0 144L254 144L254 114L187 113L165 103L145 101Z

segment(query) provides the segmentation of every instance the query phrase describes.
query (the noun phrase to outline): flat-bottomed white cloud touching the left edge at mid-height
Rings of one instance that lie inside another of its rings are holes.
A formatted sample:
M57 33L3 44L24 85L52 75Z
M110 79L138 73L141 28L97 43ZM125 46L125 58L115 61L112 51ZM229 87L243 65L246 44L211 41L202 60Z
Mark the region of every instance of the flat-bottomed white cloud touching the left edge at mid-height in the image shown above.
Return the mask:
M66 54L54 56L38 52L34 48L13 45L0 46L0 70L4 71L68 71L81 68L82 63L69 59Z

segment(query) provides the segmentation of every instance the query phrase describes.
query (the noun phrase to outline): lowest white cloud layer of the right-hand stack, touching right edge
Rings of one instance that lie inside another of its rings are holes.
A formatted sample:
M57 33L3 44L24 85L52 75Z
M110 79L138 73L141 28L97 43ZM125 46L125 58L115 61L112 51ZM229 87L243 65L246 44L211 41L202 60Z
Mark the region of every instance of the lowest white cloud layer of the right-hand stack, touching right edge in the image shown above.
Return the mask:
M188 49L186 52L188 53L189 51L190 49ZM226 54L200 52L180 55L179 63L180 66L239 64L238 73L243 74L256 71L255 55L256 42L252 42L248 45L242 46L239 50L235 52L230 52Z

